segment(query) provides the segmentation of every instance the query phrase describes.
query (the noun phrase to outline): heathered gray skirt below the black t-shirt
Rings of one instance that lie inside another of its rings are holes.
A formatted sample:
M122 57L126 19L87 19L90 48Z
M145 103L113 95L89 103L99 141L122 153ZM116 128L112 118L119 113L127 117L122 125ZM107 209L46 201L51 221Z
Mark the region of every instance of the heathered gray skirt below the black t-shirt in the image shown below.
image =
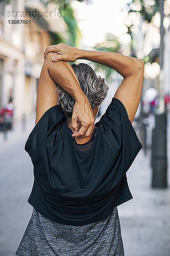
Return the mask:
M84 226L60 224L33 207L18 256L124 256L117 207L101 221Z

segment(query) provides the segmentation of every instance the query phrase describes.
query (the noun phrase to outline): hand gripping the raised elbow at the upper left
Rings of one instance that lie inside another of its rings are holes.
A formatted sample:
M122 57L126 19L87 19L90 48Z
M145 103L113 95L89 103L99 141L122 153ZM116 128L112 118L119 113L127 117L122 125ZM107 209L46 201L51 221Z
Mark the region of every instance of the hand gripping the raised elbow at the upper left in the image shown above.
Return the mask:
M67 44L56 44L48 46L44 52L44 58L48 52L57 52L59 55L52 58L52 61L69 61L74 62L80 56L80 49Z

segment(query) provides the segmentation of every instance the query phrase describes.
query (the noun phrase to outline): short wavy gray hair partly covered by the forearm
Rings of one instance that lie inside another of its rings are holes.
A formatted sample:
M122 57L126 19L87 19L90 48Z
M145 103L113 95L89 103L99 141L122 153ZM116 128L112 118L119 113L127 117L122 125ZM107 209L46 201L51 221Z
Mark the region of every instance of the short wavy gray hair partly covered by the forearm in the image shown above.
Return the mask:
M73 63L71 67L79 80L83 93L88 98L91 109L94 109L96 105L100 105L105 100L108 94L109 87L105 84L105 79L101 78L101 76L96 76L96 73L88 64L79 63L77 65ZM65 116L72 116L75 105L74 98L58 84L55 84L55 91L58 93L57 104L59 108L61 108Z

